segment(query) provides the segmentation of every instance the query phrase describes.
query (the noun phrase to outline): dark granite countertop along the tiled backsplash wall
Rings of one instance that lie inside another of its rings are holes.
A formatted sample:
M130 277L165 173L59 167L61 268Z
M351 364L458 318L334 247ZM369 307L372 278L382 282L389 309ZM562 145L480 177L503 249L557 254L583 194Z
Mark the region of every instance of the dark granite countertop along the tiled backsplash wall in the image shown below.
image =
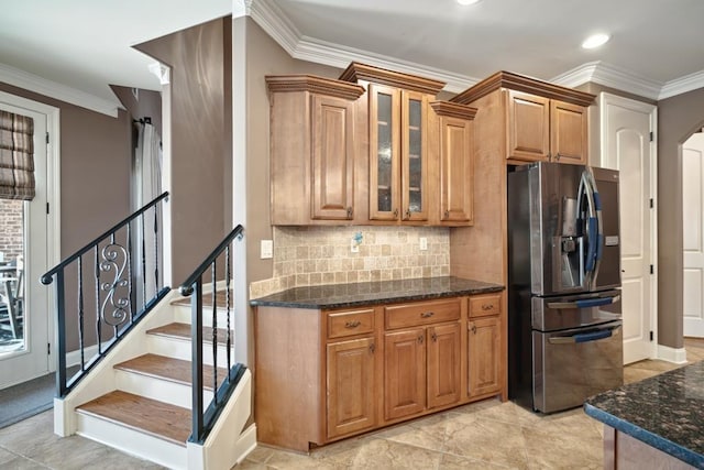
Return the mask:
M250 300L252 306L342 308L501 292L504 286L460 277L425 277L295 287Z

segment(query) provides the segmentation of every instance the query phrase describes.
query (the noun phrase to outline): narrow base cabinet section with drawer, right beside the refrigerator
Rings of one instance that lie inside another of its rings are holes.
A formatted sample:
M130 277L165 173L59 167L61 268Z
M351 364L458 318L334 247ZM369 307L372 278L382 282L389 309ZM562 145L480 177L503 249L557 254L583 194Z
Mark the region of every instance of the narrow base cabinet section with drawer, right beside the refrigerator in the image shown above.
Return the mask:
M502 389L502 296L470 299L468 364L470 396L496 394Z

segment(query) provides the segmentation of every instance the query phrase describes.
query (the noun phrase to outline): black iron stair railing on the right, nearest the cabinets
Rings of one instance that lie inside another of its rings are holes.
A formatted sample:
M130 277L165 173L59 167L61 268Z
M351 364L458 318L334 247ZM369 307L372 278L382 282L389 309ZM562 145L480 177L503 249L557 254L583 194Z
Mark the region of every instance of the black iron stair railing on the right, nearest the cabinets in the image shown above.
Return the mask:
M206 258L206 260L188 276L180 285L182 295L190 296L190 332L191 332L191 362L193 362L193 407L191 407L191 435L189 441L204 444L208 434L212 429L218 416L224 408L224 405L238 385L244 370L241 363L234 363L232 359L232 245L235 240L242 239L242 226L237 226L218 247ZM220 263L218 263L220 261ZM208 294L204 294L204 280L210 282L212 289ZM218 282L220 280L220 282ZM224 283L224 285L222 285ZM218 288L218 285L221 288ZM218 291L222 292L219 299ZM212 365L206 365L204 353L204 299L209 296L211 309L212 325ZM222 305L219 305L219 300ZM223 328L223 338L218 332L218 309L226 315ZM227 350L226 371L220 374L218 372L218 340L224 339ZM204 369L212 368L212 382L206 384L204 381ZM208 406L204 403L204 389L212 385L213 397Z

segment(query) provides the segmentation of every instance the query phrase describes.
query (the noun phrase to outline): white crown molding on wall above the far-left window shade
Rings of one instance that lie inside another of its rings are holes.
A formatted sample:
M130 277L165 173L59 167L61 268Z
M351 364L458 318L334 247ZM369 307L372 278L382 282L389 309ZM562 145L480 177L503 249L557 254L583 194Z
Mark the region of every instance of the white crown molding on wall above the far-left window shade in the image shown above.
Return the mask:
M118 117L120 105L4 64L0 64L0 81L113 118Z

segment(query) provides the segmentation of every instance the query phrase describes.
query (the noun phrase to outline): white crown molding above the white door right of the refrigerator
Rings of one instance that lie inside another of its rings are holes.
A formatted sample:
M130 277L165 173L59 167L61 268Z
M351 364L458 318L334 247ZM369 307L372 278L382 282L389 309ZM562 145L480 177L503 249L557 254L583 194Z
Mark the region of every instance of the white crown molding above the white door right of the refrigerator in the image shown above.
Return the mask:
M651 80L601 61L581 65L562 75L558 75L550 81L565 87L576 87L592 81L656 100L660 96L660 90L663 86L661 81Z

